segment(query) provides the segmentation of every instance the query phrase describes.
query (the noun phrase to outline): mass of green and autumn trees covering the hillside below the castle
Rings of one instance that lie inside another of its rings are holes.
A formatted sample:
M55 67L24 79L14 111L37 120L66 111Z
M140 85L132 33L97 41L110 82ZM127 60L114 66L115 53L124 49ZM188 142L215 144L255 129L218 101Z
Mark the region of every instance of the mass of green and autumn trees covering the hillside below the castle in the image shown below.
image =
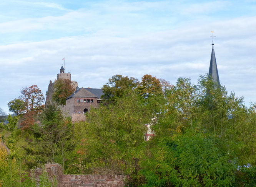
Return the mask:
M254 103L246 107L207 76L171 85L151 75L115 75L102 89L100 108L74 124L55 105L43 109L41 94L38 102L20 97L17 117L0 125L10 149L0 146L0 186L30 184L27 171L47 162L66 174L129 174L130 187L256 185ZM148 127L154 136L145 141Z

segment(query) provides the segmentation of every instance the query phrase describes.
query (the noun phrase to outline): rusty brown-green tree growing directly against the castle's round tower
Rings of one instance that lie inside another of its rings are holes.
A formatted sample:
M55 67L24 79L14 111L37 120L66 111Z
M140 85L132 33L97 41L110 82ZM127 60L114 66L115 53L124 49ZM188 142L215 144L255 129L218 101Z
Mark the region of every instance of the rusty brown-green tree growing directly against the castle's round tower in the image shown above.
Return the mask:
M57 104L61 104L61 105L65 105L66 98L75 91L75 88L71 84L71 81L67 79L60 79L55 81L53 87L54 87L54 93L53 93L52 99Z

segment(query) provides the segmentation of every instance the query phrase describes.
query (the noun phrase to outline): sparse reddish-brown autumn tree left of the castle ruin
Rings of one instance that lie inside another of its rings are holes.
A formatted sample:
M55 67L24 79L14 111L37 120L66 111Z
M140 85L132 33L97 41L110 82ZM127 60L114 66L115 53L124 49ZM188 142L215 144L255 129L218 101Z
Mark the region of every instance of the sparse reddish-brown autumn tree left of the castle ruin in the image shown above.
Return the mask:
M42 111L45 97L37 85L22 88L20 93L21 95L19 99L22 99L22 101L25 102L27 111Z

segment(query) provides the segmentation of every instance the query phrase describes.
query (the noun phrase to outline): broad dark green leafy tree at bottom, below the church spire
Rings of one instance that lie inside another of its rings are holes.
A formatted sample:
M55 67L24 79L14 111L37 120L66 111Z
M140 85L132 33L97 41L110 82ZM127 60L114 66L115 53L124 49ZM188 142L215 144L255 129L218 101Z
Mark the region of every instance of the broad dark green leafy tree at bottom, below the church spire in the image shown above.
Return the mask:
M141 159L145 187L233 186L236 166L214 137L186 132L156 137Z

